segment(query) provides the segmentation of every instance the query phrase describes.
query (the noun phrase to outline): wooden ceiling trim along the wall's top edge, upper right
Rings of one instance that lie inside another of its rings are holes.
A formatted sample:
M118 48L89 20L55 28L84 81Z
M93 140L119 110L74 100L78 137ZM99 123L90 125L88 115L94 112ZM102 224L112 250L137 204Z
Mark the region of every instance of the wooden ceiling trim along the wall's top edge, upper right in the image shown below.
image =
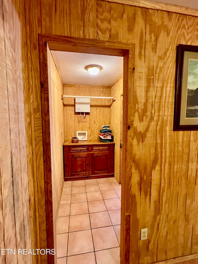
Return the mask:
M163 4L163 3L153 3L146 0L100 0L105 2L113 2L113 3L119 3L129 6L138 6L138 7L146 7L146 8L152 8L162 11L169 11L173 13L179 13L184 15L192 15L192 16L198 16L198 10L187 8L183 6L175 6L171 4Z

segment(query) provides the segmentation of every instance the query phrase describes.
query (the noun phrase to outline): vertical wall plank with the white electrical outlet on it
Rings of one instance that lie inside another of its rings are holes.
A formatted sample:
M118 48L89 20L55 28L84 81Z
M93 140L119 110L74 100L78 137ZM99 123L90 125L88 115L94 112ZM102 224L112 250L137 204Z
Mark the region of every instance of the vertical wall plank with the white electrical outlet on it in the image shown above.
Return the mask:
M155 60L157 39L157 11L146 13L146 44L144 71L143 143L141 175L140 229L148 228L150 218L151 165L153 141L153 99L155 87ZM140 241L140 263L148 263L148 240Z

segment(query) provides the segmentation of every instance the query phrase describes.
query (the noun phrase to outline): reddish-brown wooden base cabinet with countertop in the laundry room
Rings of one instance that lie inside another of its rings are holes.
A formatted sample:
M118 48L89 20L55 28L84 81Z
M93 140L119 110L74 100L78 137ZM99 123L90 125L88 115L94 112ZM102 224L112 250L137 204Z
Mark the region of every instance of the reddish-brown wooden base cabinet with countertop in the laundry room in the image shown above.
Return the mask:
M114 142L64 142L64 179L114 177Z

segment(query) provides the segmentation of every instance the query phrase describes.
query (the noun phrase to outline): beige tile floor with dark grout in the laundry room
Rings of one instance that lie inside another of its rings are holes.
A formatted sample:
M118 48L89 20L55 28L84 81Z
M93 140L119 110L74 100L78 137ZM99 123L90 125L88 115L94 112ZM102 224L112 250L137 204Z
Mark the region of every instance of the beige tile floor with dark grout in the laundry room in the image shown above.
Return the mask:
M121 185L114 178L64 182L57 264L120 263Z

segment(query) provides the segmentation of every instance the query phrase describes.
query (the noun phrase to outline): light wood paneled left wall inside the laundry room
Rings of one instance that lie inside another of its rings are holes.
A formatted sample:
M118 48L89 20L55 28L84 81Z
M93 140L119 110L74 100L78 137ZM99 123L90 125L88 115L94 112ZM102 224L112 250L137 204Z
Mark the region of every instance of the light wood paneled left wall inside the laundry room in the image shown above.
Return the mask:
M52 161L52 200L54 223L54 249L56 250L56 219L64 181L63 175L63 149L64 143L64 113L61 95L63 84L54 63L52 54L47 47L48 57L48 84L49 84L49 110L50 110L50 141Z

